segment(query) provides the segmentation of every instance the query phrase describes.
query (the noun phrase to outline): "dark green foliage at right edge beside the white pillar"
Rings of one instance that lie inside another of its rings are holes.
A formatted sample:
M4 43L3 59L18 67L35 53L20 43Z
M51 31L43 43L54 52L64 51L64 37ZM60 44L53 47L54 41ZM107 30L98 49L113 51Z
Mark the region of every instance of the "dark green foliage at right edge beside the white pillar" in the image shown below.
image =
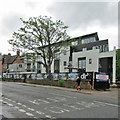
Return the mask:
M116 76L120 77L120 49L116 51Z

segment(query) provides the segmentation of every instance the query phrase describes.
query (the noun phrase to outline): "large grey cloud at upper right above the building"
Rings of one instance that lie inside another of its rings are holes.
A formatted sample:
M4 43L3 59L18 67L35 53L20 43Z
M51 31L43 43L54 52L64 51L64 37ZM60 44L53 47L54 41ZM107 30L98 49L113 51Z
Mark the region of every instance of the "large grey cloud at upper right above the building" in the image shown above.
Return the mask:
M117 4L107 2L59 2L48 8L53 16L72 28L87 27L92 23L117 25Z

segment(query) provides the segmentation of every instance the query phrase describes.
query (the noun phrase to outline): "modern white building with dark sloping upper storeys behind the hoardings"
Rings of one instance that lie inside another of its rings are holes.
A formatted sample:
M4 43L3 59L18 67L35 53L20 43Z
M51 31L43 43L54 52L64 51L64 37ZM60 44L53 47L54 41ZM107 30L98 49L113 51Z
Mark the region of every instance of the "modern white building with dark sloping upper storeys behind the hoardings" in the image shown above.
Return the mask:
M45 73L39 63L40 56L27 58L26 71ZM111 82L116 78L116 49L109 51L108 39L99 40L97 33L74 38L71 45L63 47L55 54L51 73L103 72L110 75Z

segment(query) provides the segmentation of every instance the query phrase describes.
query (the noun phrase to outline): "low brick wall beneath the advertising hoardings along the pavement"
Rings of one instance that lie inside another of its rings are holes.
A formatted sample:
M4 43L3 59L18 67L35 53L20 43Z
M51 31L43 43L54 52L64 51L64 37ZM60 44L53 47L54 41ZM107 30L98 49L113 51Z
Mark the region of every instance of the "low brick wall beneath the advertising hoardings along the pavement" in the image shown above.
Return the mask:
M24 82L23 79L4 79L7 82ZM26 79L26 83L30 84L38 84L38 85L50 85L50 86L60 86L58 80L39 80L39 79ZM63 87L67 88L76 88L77 83L76 81L65 80L63 82ZM81 82L82 89L91 89L91 85L89 82Z

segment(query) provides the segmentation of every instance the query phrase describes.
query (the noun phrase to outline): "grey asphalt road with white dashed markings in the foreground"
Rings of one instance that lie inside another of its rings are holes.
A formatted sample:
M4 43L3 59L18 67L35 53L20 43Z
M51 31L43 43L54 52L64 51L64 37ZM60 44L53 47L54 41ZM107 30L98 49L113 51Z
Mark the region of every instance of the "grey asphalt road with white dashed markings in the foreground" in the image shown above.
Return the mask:
M7 118L118 118L117 97L8 82L2 82L2 93L2 115Z

